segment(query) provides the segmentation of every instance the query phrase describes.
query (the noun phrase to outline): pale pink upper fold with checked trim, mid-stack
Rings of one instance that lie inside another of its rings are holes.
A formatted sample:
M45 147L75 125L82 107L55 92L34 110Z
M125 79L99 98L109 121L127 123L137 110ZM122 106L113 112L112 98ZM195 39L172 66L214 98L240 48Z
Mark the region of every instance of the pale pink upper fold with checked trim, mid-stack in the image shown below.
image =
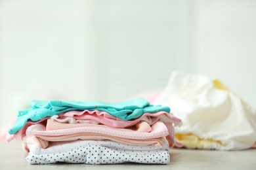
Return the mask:
M38 126L45 127L41 124L38 124ZM45 129L37 128L37 124L35 124L28 127L26 135L30 137L32 135L60 136L74 133L96 133L139 140L165 137L169 135L168 129L163 122L156 122L152 127L148 126L148 124L144 122L139 124L138 127L127 127L125 129L121 129L98 124L62 124L56 121L47 120L47 126ZM148 128L152 128L151 131L148 131Z

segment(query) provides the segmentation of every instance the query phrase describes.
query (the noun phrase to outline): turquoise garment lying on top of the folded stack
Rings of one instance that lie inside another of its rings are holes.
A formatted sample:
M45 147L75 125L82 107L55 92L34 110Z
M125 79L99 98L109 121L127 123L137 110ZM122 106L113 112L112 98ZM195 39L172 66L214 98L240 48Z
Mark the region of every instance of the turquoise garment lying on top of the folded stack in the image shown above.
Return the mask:
M161 105L150 105L148 101L142 98L133 99L131 101L123 101L120 103L103 103L100 101L31 101L30 109L20 110L14 126L9 129L12 135L19 131L28 120L37 122L43 118L67 112L70 110L102 110L108 112L112 116L123 120L137 119L146 112L165 111L170 112L169 107Z

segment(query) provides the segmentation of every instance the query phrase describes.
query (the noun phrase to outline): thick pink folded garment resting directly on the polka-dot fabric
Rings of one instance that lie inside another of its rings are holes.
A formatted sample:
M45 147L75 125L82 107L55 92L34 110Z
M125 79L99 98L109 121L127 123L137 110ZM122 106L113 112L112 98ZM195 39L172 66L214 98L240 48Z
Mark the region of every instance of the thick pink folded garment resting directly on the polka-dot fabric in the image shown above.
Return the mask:
M137 129L116 129L104 125L87 124L84 127L68 127L71 124L62 124L48 120L49 128L47 130L42 124L35 124L28 127L27 137L24 137L24 142L35 144L41 148L47 148L48 144L45 141L75 141L81 140L110 140L123 144L137 145L155 145L163 146L166 141L165 136L168 135L167 127L162 122L156 122L152 125L152 131L140 132L144 127ZM84 125L84 124L80 124ZM66 129L62 129L66 127ZM144 126L144 125L142 125ZM38 141L37 141L38 139ZM43 140L43 141L42 141Z

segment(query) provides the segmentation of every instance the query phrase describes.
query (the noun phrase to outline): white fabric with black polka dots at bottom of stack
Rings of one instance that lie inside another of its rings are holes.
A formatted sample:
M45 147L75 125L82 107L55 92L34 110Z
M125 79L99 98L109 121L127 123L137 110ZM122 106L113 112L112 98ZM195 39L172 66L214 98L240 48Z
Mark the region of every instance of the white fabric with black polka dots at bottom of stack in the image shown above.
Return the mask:
M121 148L108 148L100 145L80 146L65 152L51 154L29 153L26 160L30 164L49 164L56 162L87 163L87 164L113 164L113 163L169 163L169 152L158 150L127 150Z

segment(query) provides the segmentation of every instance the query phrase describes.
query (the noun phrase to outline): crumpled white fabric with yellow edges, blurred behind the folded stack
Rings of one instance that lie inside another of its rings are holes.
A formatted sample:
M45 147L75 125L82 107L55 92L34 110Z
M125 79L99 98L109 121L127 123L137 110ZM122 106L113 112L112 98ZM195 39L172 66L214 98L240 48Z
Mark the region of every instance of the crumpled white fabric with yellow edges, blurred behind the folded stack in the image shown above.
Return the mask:
M181 118L183 124L175 129L176 134L221 142L205 143L203 149L242 150L256 141L256 110L207 76L173 72L154 101L158 104L167 105Z

